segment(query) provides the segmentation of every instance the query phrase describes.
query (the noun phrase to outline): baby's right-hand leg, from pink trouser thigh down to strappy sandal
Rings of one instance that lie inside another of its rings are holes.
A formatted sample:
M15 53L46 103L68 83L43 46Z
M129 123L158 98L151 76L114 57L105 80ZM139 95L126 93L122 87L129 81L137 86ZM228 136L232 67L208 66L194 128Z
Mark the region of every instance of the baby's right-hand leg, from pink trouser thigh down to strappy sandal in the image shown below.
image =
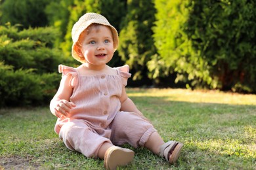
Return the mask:
M182 143L169 141L165 143L148 120L133 112L120 112L112 124L112 142L133 147L144 146L158 156L174 163L181 153Z

